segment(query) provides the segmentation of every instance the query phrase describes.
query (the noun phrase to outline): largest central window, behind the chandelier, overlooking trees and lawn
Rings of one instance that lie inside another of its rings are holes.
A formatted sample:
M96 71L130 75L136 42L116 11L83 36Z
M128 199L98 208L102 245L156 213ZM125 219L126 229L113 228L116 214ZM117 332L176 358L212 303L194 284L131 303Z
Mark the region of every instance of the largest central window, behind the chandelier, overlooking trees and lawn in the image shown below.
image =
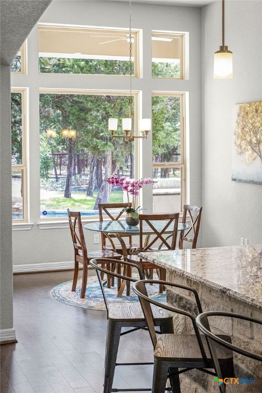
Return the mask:
M41 219L66 217L67 208L94 216L97 204L108 197L123 202L121 187L111 188L104 180L116 173L134 179L134 142L111 140L107 119L128 113L126 93L41 90Z

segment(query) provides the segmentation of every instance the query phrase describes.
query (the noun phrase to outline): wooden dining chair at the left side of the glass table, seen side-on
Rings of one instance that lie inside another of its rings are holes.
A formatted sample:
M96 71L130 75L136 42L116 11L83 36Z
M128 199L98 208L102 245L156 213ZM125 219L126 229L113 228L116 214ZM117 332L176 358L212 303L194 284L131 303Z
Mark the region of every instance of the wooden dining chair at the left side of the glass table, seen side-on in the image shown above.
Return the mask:
M76 290L79 263L80 263L83 265L83 278L82 278L80 298L83 299L85 296L86 283L88 281L88 264L90 259L95 258L96 256L121 259L121 255L110 250L88 252L85 244L84 234L83 234L80 211L71 211L70 209L68 209L68 219L69 219L69 227L70 227L70 232L71 232L74 251L75 251L75 268L74 268L72 292ZM111 277L109 275L107 276L107 286L108 287L111 286Z

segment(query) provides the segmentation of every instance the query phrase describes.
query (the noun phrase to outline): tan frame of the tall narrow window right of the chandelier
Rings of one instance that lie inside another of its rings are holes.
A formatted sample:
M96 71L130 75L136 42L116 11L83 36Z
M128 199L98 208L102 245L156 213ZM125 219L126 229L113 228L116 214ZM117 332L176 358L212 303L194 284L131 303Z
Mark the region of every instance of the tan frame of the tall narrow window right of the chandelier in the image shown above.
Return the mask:
M180 97L180 135L181 135L181 154L180 162L153 162L152 170L154 168L178 168L181 170L181 198L180 198L180 216L183 213L183 207L186 203L186 124L185 124L185 112L186 112L186 93L181 92L164 92L164 91L153 91L152 97ZM152 130L152 133L154 131Z

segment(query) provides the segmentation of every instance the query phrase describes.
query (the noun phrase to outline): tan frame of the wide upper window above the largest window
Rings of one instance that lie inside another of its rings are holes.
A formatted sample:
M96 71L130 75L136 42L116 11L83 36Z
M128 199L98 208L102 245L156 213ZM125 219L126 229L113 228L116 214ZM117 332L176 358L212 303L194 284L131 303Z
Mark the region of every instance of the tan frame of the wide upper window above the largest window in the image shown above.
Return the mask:
M129 29L124 29L124 28L106 28L106 27L92 27L92 26L65 26L65 25L57 25L57 24L44 24L44 23L39 23L38 24L38 32L39 30L71 30L71 31L85 31L85 30L90 30L93 33L123 33L129 35ZM134 40L134 75L132 75L132 78L139 78L140 77L140 59L139 59L139 47L140 47L140 29L132 29L132 34L136 39ZM38 46L39 46L39 38L38 38ZM128 55L129 56L129 55ZM38 59L39 59L39 50L38 50ZM54 75L87 75L87 76L106 76L106 77L120 77L120 78L128 78L130 77L129 74L127 75L113 75L113 74L65 74L65 73L41 73L39 70L39 74L54 74Z

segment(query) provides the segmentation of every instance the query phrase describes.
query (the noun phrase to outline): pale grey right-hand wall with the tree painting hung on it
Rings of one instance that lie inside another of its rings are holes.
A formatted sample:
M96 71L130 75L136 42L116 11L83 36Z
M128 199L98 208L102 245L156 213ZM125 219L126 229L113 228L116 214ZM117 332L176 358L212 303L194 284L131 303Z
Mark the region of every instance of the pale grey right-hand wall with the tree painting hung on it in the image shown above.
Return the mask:
M225 44L233 79L213 79L213 53L222 45L221 2L202 9L203 247L262 240L262 186L231 181L232 106L262 100L262 2L228 1Z

